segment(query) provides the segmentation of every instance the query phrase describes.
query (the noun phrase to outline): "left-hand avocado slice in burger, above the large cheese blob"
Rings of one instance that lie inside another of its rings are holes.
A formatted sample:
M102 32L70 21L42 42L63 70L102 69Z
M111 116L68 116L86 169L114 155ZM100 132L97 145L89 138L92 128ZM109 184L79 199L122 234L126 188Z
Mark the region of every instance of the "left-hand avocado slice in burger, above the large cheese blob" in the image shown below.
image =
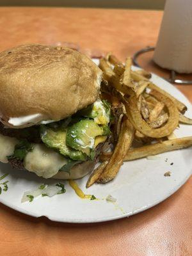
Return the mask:
M40 127L40 136L47 147L54 148L61 155L70 157L73 160L86 160L86 155L83 152L66 145L66 133L63 128L51 129L46 125L41 125Z

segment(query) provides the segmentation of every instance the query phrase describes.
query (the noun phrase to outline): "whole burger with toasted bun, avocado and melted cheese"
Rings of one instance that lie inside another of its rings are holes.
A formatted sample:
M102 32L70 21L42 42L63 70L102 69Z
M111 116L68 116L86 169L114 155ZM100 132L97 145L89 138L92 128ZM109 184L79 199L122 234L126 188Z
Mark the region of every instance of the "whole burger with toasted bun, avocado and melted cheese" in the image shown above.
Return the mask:
M91 172L110 136L102 70L80 52L40 44L0 53L0 161L44 178Z

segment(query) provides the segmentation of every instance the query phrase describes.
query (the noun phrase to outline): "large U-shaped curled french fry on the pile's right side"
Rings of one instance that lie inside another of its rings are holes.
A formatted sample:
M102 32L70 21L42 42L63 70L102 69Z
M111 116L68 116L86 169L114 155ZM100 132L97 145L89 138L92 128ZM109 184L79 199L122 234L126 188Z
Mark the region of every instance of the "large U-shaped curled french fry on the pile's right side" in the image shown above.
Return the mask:
M158 96L157 96L158 97ZM160 98L160 95L159 95ZM158 99L159 100L159 99ZM129 120L131 120L132 125L134 128L145 136L152 137L152 138L162 138L168 136L172 133L177 125L179 124L179 112L173 104L172 100L161 95L161 100L163 101L164 105L168 109L168 122L163 127L154 129L150 127L145 120L141 117L140 111L137 106L137 99L136 96L131 96L128 99L127 104L125 104L125 109L127 111L127 116Z

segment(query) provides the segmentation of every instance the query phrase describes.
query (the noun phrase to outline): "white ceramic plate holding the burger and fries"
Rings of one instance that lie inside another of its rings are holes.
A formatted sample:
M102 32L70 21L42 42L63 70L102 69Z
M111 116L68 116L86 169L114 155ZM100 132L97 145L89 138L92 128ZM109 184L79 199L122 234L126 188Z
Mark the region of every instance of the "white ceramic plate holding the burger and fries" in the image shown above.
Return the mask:
M134 68L136 69L136 68ZM152 75L152 81L174 95L188 106L187 116L192 117L191 104L172 84ZM191 136L189 125L180 125L176 136ZM77 180L77 184L86 194L93 194L100 200L83 200L65 181L66 193L52 198L38 197L29 203L20 200L25 191L36 189L40 184L56 184L57 180L45 180L33 173L13 170L9 164L0 164L0 175L9 173L4 180L9 180L8 191L2 191L0 202L12 209L31 216L47 216L53 221L69 223L90 223L124 218L144 211L168 196L186 182L192 171L192 148L176 150L159 155L155 160L140 159L125 162L117 177L108 184L94 184L86 189L88 177ZM171 163L173 163L171 165ZM164 173L170 171L170 177ZM116 198L116 203L106 202L108 195Z

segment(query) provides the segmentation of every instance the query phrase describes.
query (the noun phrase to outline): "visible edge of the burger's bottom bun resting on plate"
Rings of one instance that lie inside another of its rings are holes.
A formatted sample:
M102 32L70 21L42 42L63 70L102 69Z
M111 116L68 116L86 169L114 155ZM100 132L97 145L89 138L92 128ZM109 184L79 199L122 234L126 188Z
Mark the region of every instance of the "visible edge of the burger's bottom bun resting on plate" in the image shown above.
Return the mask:
M70 172L63 172L60 171L56 175L52 176L53 179L62 179L62 180L69 180L69 179L80 179L87 175L88 173L92 172L95 167L95 162L93 161L86 161L80 164L76 164L74 167L70 169Z

